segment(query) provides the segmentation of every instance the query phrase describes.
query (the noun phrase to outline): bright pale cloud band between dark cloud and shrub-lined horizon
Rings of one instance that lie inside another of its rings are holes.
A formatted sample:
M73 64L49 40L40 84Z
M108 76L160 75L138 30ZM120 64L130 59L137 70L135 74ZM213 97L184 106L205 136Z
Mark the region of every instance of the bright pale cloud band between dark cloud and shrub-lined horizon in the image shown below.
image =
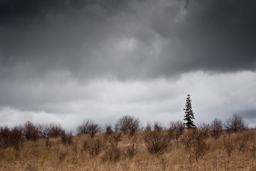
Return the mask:
M93 118L104 125L114 123L123 115L137 116L143 123L167 124L170 120L183 119L186 94L190 94L196 123L211 122L216 117L225 120L238 113L253 126L255 76L255 72L248 71L214 75L195 72L182 74L176 81L98 79L81 83L62 75L58 83L23 82L13 85L12 90L16 92L0 92L8 97L1 99L4 105L0 117L5 118L1 124L55 121L74 129L84 118Z

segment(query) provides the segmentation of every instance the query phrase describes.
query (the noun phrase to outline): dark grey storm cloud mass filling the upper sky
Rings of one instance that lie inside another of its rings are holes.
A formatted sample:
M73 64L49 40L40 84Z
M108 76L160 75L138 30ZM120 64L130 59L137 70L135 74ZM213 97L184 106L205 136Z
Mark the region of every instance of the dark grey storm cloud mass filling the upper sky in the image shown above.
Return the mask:
M255 1L1 1L1 78L255 70Z

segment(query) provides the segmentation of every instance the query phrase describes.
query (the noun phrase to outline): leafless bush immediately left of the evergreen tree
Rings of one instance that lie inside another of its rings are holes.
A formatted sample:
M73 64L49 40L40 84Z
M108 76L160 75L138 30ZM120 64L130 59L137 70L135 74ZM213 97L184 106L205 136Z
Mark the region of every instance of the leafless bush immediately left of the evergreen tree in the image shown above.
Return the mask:
M185 126L182 121L169 122L168 134L170 139L175 139L177 144L180 136L183 134Z

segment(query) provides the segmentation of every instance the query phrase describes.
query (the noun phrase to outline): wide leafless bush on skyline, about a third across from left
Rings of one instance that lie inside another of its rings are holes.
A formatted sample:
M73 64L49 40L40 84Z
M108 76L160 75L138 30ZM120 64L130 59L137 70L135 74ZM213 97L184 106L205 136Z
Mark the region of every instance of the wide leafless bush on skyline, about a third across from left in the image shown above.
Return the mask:
M96 133L100 132L100 126L94 123L91 119L83 120L81 124L76 127L77 134L89 134L91 138L95 136Z

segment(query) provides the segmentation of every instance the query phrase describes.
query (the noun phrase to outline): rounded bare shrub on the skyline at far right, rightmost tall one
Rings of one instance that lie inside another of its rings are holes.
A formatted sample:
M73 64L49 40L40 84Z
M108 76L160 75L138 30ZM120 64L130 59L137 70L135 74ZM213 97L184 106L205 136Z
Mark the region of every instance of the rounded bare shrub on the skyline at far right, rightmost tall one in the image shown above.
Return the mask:
M225 122L225 129L227 132L238 132L247 128L244 119L237 113L230 116Z

